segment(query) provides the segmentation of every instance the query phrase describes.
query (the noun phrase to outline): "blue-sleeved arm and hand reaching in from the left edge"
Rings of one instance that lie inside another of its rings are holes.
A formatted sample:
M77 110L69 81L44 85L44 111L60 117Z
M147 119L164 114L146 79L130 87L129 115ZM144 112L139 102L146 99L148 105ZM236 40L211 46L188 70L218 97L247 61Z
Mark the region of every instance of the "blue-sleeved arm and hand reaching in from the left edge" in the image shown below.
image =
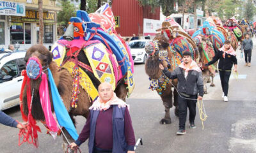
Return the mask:
M18 123L15 119L12 117L6 115L6 113L0 111L0 123L4 124L5 126L10 126L13 128L19 128L24 129L24 125L21 123Z

